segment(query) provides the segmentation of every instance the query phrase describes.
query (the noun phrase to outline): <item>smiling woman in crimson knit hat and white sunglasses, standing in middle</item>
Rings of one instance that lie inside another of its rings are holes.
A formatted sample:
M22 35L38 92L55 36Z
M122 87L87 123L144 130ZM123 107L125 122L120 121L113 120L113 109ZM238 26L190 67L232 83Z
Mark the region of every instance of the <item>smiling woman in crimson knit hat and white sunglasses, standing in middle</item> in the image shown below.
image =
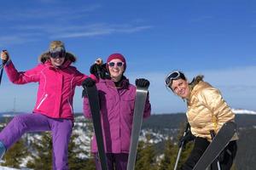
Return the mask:
M96 65L92 65L90 69L93 74L97 74L95 67ZM96 84L101 106L102 133L108 170L126 170L127 167L136 87L124 77L125 68L126 62L122 54L110 55L107 60L107 71L110 77L100 79ZM84 81L85 86L87 80ZM143 78L137 79L136 84L149 86L148 80ZM150 111L151 106L147 99L143 117L150 116ZM91 117L90 105L86 97L84 98L84 116ZM91 152L95 156L96 169L100 170L95 136L92 139Z

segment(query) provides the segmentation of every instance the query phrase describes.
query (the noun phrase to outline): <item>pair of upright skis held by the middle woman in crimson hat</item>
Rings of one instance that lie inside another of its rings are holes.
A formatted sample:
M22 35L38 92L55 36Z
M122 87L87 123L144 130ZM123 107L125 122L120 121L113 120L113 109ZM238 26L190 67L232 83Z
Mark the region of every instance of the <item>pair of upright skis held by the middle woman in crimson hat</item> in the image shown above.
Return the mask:
M96 89L96 85L92 87L87 87L85 88L85 90L87 92L88 99L89 99L92 122L93 122L94 131L96 134L96 144L98 147L98 155L100 157L102 170L108 170L108 164L107 164L107 159L106 159L106 154L104 149L104 142L102 137L102 123L101 123L98 91ZM147 94L148 94L148 88L137 87L132 132L131 132L130 153L128 157L127 170L133 170L135 167L138 138L139 138L139 134L142 127L143 112L144 112L144 107L147 99Z

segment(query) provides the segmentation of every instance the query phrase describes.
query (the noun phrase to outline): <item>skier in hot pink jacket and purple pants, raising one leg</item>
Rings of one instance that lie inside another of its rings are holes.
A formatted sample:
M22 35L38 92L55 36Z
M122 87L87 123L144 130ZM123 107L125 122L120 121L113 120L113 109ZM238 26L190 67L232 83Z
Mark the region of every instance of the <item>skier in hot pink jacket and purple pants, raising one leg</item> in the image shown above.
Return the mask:
M38 97L32 114L15 116L0 133L0 156L26 132L51 131L53 169L67 166L68 143L73 127L73 95L76 86L87 78L71 64L74 55L66 52L63 42L53 41L49 51L39 58L41 64L28 71L17 71L7 51L1 53L4 69L15 84L38 82ZM91 75L93 79L96 77Z

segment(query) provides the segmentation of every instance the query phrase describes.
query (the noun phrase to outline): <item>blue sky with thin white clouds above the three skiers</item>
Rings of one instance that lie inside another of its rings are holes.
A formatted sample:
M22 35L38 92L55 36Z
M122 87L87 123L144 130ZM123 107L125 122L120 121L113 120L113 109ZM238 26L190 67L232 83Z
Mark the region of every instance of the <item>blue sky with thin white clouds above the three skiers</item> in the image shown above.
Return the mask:
M164 85L166 74L203 74L232 108L256 111L256 2L253 0L87 1L1 3L0 48L17 70L38 64L49 42L65 42L75 66L89 74L97 57L125 55L125 76L148 78L153 113L186 111ZM18 86L3 75L0 111L32 111L36 83ZM74 111L82 111L81 88Z

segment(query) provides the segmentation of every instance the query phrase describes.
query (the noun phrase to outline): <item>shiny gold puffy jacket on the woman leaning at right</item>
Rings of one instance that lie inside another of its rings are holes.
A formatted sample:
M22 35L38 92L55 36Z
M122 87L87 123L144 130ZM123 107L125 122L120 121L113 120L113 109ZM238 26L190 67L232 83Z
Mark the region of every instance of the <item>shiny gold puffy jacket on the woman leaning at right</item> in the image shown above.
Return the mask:
M190 90L189 99L187 99L188 111L187 117L191 127L191 133L195 137L205 138L212 141L210 130L218 133L224 122L234 121L235 114L230 106L222 98L217 88L202 81L196 82ZM235 134L231 140L238 139Z

